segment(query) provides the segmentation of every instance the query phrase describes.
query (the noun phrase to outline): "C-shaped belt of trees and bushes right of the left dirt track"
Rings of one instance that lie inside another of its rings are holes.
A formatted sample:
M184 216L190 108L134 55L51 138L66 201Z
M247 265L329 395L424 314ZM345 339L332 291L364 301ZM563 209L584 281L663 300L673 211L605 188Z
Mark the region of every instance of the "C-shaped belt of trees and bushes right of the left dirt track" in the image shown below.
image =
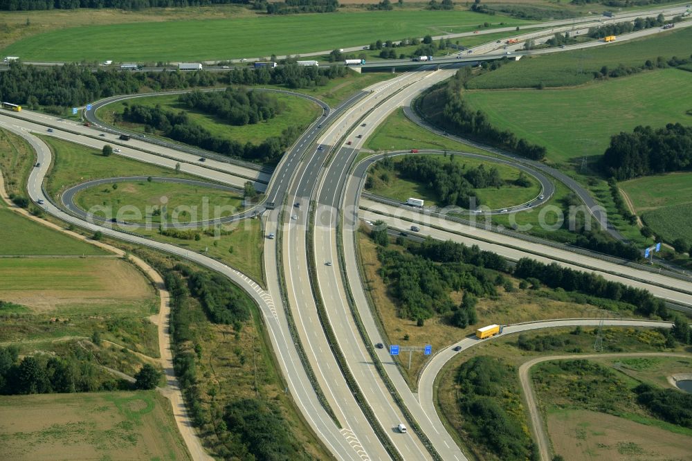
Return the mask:
M216 454L222 459L302 459L303 449L274 401L257 397L222 402L224 406L216 410L203 406L199 380L206 378L197 372L202 355L195 325L208 319L234 323L239 331L250 318L242 291L222 275L194 271L184 264L159 269L171 294L174 367L193 424L198 428L214 424ZM194 302L202 305L204 314L192 308Z

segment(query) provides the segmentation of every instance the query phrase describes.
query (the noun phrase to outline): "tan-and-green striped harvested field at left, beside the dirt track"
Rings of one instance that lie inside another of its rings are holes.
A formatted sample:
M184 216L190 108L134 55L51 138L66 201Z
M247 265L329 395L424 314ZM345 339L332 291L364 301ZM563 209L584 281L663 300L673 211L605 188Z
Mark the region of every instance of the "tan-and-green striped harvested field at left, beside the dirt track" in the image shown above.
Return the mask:
M116 257L0 258L0 299L35 312L93 309L151 313L156 301L148 280Z

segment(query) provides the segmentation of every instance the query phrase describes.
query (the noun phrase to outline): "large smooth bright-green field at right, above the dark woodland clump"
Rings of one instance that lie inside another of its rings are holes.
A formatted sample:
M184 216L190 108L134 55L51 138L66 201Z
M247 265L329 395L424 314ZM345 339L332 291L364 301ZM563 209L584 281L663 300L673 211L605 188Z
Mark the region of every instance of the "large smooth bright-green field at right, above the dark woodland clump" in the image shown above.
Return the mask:
M545 146L550 161L573 163L603 154L611 135L637 125L692 123L691 83L689 72L666 69L576 89L468 91L464 99L495 127Z

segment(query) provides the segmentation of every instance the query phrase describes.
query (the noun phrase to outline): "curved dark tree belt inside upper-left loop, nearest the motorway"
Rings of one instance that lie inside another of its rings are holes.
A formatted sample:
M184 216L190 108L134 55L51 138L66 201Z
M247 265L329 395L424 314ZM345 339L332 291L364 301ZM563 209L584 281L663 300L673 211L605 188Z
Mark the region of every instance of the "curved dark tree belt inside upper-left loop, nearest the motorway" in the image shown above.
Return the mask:
M288 127L284 129L281 136L270 136L262 143L254 145L214 136L207 129L192 123L185 112L165 111L158 105L156 107L143 105L125 107L120 117L129 122L142 123L150 129L158 129L164 136L181 143L262 163L277 163L286 146L291 145L300 135L301 129L301 127Z

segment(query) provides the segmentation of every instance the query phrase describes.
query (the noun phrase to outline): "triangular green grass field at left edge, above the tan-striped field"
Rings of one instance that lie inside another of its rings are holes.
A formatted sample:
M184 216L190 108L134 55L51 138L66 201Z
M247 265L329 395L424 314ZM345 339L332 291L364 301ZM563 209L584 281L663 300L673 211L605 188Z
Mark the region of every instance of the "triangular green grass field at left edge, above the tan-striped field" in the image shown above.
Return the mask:
M105 255L100 248L31 222L0 202L0 255Z

